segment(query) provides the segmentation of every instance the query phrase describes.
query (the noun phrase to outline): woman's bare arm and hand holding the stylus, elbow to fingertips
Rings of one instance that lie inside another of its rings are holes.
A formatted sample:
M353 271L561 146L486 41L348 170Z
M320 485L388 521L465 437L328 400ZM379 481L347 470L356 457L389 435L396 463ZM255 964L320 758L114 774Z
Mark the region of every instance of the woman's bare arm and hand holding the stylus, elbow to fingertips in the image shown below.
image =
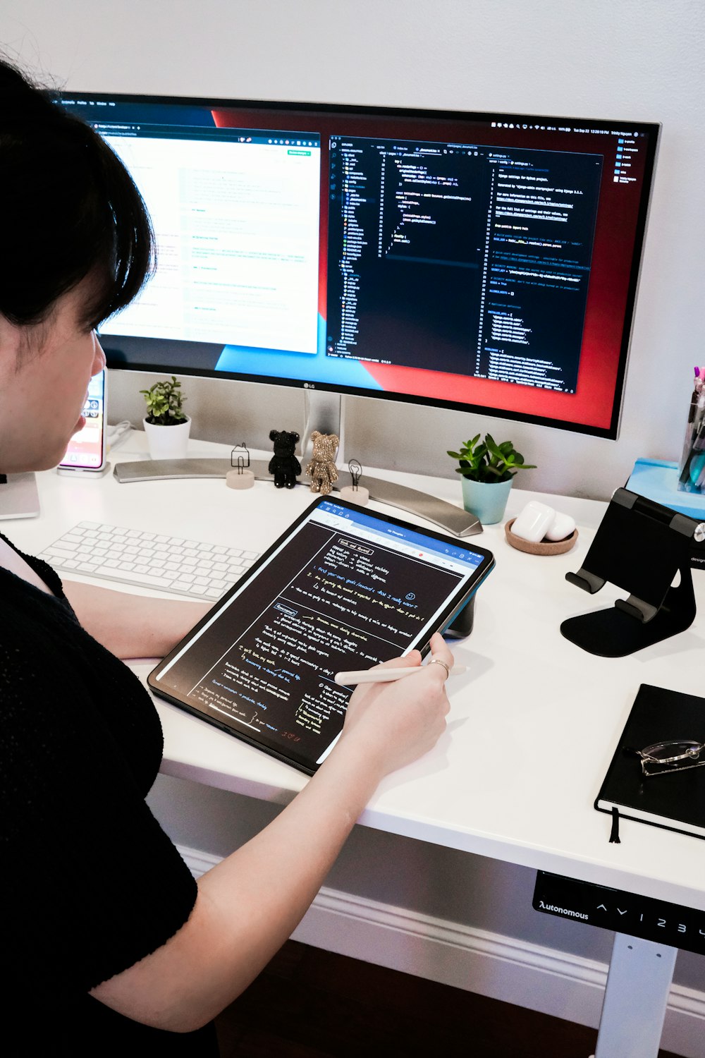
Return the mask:
M441 636L431 649L452 664ZM389 662L409 663L420 664L420 655ZM358 688L341 737L304 789L201 877L193 911L173 937L92 995L173 1032L205 1024L239 996L305 913L379 781L435 745L448 711L444 680L433 664Z

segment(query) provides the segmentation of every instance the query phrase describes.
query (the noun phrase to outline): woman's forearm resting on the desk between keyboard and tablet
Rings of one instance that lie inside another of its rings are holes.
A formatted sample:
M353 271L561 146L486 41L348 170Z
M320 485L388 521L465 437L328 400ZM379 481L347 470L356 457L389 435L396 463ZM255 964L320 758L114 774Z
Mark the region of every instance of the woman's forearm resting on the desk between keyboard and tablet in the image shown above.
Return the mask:
M86 631L118 658L164 657L212 606L78 581L63 581L63 591Z

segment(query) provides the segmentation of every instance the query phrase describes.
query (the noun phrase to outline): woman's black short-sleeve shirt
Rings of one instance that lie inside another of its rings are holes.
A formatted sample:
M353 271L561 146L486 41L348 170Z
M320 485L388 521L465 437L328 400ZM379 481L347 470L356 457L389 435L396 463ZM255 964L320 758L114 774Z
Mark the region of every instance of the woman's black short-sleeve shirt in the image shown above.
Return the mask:
M18 1055L212 1054L210 1030L148 1028L88 995L172 936L197 889L145 803L163 750L149 695L24 558L54 596L0 569L4 1038L26 1034Z

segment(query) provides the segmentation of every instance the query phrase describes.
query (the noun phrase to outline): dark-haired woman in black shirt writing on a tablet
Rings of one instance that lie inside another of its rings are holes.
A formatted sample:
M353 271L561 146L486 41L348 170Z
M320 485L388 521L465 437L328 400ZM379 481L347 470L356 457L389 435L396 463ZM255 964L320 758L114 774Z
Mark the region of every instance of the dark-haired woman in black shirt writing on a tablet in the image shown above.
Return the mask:
M152 242L100 138L1 62L0 181L10 473L61 458L105 364L95 328L140 290ZM443 663L356 691L307 787L197 886L145 804L159 718L114 655L166 653L203 608L62 586L5 540L0 598L5 1039L21 1021L22 1055L217 1053L212 1017L295 928L381 779L445 729L452 657L437 636Z

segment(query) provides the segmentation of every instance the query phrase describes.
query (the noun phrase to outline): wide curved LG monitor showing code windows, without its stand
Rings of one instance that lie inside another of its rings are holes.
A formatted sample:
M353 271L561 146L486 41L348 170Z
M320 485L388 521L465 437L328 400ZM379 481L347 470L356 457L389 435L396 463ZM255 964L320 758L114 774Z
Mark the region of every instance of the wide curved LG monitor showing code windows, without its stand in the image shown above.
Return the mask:
M64 93L157 269L110 367L616 437L658 127Z

